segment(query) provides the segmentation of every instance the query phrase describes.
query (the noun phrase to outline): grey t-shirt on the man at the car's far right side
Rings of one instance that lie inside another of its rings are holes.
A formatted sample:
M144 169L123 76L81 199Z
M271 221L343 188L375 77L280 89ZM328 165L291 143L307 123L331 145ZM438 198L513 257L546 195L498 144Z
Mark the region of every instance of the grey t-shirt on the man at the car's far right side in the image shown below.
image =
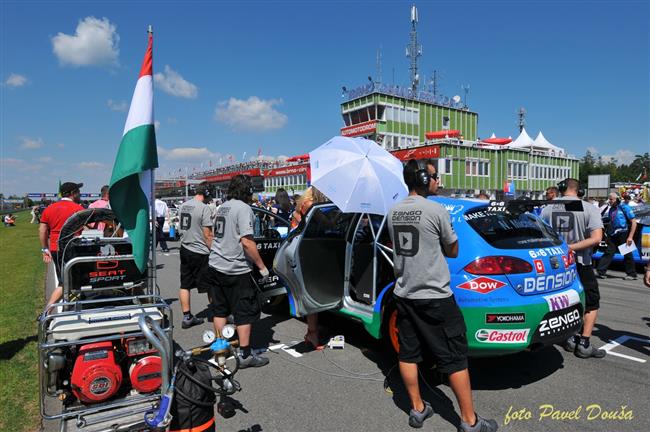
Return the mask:
M560 197L558 201L579 200L578 197ZM567 211L564 205L549 204L542 210L542 219L562 237L567 244L577 243L591 236L595 229L603 227L600 211L586 201L582 210ZM576 261L582 265L591 265L591 248L576 251Z

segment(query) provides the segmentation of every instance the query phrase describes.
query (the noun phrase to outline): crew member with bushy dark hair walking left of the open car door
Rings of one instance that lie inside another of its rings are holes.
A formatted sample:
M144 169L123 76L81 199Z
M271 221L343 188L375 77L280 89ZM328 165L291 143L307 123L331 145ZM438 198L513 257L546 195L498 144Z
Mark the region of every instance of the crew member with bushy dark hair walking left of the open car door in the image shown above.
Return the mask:
M250 208L253 188L250 177L236 175L228 186L227 199L219 206L215 218L215 236L209 266L201 285L210 290L210 301L217 332L233 315L239 336L239 367L260 367L269 359L253 353L250 347L251 326L260 317L257 290L252 285L251 266L268 278L257 245L253 240L255 216Z

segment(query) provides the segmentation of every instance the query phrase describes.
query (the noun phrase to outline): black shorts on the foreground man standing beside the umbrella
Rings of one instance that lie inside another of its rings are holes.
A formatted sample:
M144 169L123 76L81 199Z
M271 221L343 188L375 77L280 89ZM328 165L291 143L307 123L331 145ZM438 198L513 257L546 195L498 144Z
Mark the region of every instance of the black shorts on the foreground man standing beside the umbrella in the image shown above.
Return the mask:
M421 362L424 346L433 354L440 372L467 369L467 328L453 295L444 299L395 299L400 361Z

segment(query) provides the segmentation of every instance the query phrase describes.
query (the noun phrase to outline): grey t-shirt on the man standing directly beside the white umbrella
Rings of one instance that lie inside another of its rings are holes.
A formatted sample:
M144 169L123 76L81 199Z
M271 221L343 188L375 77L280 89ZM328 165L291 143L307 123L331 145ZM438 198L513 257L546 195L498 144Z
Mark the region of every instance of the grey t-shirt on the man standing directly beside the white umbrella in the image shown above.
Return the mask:
M397 278L395 295L409 299L451 296L442 245L450 245L458 237L447 210L419 195L409 196L388 213L388 231Z

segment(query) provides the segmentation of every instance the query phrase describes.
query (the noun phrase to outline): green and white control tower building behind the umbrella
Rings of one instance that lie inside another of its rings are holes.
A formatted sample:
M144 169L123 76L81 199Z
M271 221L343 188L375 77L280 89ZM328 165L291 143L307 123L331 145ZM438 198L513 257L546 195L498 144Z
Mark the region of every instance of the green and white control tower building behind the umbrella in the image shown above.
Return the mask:
M454 100L371 85L347 96L341 104L341 135L372 139L402 160L433 159L445 193L497 196L510 183L518 196L538 198L560 180L579 176L576 158L481 143L478 114ZM442 130L460 134L427 140L427 132Z

